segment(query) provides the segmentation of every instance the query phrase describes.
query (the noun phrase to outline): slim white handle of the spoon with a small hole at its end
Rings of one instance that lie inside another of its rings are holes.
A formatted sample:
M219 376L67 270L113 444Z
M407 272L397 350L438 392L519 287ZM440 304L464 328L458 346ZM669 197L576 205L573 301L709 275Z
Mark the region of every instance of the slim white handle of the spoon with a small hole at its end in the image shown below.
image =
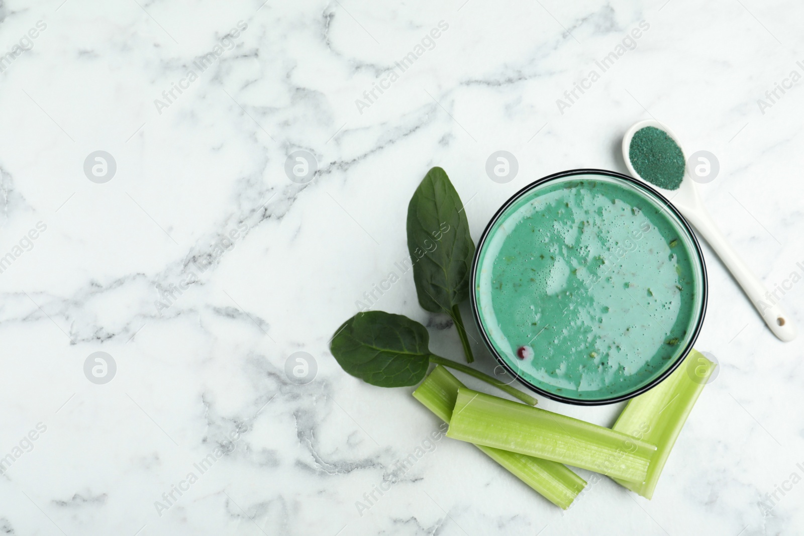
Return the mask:
M720 256L720 260L726 265L728 271L732 272L737 284L743 288L745 295L749 297L753 306L757 308L760 316L770 330L773 331L773 334L784 342L790 342L796 338L797 330L793 319L787 316L784 309L781 309L777 297L768 292L765 285L740 259L740 256L726 241L723 233L712 222L709 215L704 211L684 212L684 216L698 229L701 235L704 235L704 238L717 255Z

